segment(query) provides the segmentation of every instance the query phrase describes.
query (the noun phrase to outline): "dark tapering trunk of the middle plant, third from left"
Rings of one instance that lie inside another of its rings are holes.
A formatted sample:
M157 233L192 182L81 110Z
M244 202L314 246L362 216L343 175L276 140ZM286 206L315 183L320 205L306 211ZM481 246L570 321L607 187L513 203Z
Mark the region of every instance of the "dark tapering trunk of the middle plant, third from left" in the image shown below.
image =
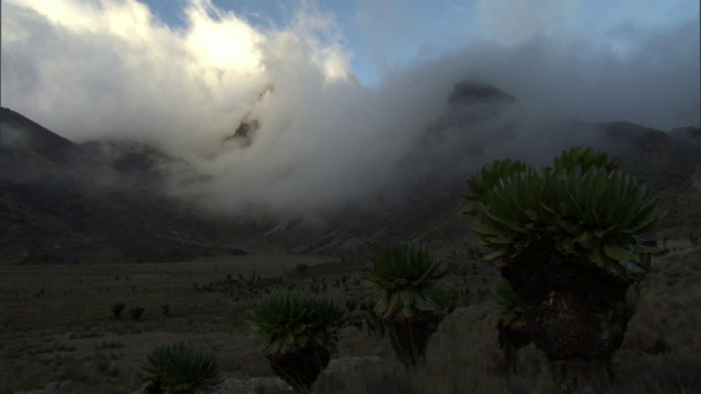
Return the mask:
M438 323L439 318L424 317L388 324L392 349L405 367L425 363L428 340L438 328Z

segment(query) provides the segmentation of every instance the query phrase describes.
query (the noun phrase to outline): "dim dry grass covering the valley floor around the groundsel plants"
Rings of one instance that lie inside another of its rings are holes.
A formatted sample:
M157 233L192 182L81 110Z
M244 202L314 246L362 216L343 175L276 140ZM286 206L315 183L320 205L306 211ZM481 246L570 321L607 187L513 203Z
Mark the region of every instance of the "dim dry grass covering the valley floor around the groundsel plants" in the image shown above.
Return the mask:
M315 276L317 285L323 279L327 292L343 300L345 289L332 283L343 277L352 281L356 269L327 269L331 265L320 265L325 268L314 271L313 266L323 262L312 258L311 274L301 275L295 270L299 256L294 265L273 269L287 257L266 257L268 269L265 274L260 271L261 286L237 291L221 282L235 280L239 274L251 278L253 273L248 265L242 268L232 263L208 262L162 265L158 270L156 266L135 265L122 267L126 271L118 274L118 267L73 267L73 271L64 274L66 267L34 268L38 270L34 274L54 278L44 281L5 269L0 279L0 394L67 380L72 383L66 393L129 393L142 384L139 373L146 355L153 346L172 339L189 340L212 351L225 379L269 376L267 361L255 349L244 322L255 299L275 287L309 288ZM348 327L343 331L334 358L378 356L382 361L347 368L343 373L324 373L313 393L553 392L545 359L532 345L519 354L519 372L505 372L496 344L496 316L484 293L496 275L489 269L473 271L468 267L462 274L452 275L456 285L469 283L471 296L434 334L426 366L406 371L397 361L388 338ZM70 275L70 279L58 280L61 275ZM32 292L15 294L24 286L23 280L34 287ZM198 283L196 289L193 282ZM203 289L208 283L219 285ZM143 306L141 321L125 316L114 320L110 305L115 301L127 303L127 309ZM161 311L163 304L171 305L168 315ZM681 245L656 258L642 283L637 313L613 359L616 381L611 392L701 393L700 325L701 247ZM276 391L261 387L257 393Z

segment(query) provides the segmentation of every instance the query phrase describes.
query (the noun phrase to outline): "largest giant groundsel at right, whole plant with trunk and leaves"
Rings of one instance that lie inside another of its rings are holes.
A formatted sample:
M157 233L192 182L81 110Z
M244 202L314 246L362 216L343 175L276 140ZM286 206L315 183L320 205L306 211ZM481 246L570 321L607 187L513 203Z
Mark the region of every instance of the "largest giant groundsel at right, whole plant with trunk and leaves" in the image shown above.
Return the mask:
M645 245L664 217L656 199L590 148L564 151L550 167L496 161L468 186L473 230L506 280L499 341L532 339L562 393L606 391L634 313L625 294L644 276L636 259L657 251Z

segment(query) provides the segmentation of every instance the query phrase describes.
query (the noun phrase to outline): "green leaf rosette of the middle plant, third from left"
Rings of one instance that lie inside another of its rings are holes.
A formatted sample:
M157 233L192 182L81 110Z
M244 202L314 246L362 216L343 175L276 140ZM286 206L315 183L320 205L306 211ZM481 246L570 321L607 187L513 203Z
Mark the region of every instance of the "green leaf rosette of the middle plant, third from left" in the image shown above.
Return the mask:
M376 315L394 321L452 312L458 291L441 283L447 271L423 246L399 243L380 247L363 271L363 290Z

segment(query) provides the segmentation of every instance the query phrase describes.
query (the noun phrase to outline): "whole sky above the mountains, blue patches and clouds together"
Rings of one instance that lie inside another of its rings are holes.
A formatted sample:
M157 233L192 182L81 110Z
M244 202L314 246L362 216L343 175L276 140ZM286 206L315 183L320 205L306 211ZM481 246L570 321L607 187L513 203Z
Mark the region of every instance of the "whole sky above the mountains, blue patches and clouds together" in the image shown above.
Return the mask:
M530 119L700 124L698 0L1 1L2 106L158 144L241 204L363 198L461 80Z

